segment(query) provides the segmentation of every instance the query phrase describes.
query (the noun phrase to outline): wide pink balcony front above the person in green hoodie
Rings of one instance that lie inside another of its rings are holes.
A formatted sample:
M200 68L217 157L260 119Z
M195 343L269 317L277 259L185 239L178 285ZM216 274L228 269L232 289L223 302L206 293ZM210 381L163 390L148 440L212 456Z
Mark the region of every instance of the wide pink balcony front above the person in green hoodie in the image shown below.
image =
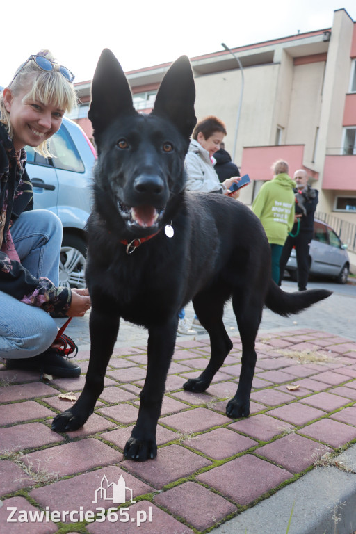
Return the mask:
M305 169L310 177L318 179L318 172L303 165L305 145L275 145L269 147L244 147L241 162L241 175L250 175L251 180L270 180L271 167L277 159L289 164L290 175L298 169Z

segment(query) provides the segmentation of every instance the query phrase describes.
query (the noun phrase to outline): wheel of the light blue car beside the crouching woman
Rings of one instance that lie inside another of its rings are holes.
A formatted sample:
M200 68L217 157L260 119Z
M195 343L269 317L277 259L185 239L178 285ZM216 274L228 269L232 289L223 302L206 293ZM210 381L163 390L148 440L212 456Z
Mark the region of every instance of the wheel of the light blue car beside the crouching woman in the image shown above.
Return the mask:
M66 287L86 287L86 242L79 236L64 234L60 248L59 284Z

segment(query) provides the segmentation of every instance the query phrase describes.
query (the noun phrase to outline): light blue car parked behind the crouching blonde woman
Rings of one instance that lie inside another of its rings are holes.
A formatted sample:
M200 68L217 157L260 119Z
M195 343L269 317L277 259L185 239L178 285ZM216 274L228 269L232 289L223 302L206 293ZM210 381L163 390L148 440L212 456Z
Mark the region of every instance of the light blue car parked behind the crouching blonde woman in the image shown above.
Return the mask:
M95 149L81 127L63 119L51 139L54 158L26 147L26 169L33 184L34 209L49 209L63 224L59 280L62 286L85 287L85 225L90 213L90 181Z

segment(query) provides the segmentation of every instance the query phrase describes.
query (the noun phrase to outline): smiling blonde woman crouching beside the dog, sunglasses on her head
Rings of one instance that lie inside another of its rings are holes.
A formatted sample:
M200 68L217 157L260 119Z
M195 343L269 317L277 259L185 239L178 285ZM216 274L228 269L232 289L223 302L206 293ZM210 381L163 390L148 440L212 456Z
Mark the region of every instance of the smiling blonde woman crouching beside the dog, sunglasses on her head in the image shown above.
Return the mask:
M62 225L54 213L32 209L24 147L51 155L49 140L76 102L73 80L44 50L29 56L0 93L0 356L8 369L66 378L81 373L67 360L75 345L53 344L49 312L83 316L90 298L87 290L58 286Z

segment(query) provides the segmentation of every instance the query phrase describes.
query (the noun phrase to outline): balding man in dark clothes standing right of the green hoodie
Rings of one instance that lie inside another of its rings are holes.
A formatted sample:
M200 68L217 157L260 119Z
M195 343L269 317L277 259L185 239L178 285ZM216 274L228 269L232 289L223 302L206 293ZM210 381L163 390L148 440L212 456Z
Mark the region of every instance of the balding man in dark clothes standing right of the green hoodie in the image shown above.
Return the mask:
M286 238L280 259L281 280L284 268L291 255L293 247L296 248L298 289L305 291L309 276L309 246L314 234L314 213L318 204L318 191L308 185L308 175L303 169L294 173L296 181L296 223ZM280 282L281 282L280 280Z

